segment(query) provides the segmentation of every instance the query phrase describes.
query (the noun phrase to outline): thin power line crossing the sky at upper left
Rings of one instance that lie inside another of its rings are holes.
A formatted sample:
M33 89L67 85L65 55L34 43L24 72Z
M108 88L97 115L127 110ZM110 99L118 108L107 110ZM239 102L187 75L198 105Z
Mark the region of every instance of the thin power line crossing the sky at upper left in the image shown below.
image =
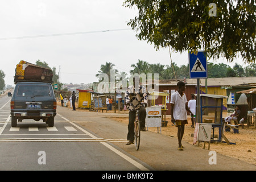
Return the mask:
M13 38L0 38L0 40L44 38L44 37L48 37L48 36L64 36L64 35L79 35L79 34L96 34L96 33L100 33L100 32L113 32L113 31L124 31L124 30L131 30L131 28L114 29L114 30L100 30L100 31L88 31L88 32L73 32L73 33L64 33L64 34L17 36L17 37L13 37Z

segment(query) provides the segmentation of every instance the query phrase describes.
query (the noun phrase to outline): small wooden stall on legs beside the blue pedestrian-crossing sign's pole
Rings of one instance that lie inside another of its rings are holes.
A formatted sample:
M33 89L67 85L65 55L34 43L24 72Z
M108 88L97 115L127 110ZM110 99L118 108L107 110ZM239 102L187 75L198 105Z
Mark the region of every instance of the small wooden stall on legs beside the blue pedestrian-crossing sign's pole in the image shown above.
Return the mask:
M195 94L196 96L197 94ZM221 142L222 137L222 111L223 99L227 96L220 96L214 94L200 94L200 123L204 126L209 125L212 128L212 136L209 142ZM198 108L197 108L198 109ZM198 117L196 115L196 117ZM200 125L199 123L199 125ZM206 127L205 127L206 128ZM214 129L218 129L218 139L214 140ZM205 131L200 131L199 133Z

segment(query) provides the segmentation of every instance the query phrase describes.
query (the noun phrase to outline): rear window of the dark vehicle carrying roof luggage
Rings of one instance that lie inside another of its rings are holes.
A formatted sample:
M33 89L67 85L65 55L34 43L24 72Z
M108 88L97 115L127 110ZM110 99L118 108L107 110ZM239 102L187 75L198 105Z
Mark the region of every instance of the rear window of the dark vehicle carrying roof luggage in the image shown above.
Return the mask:
M49 86L20 85L18 96L51 96Z

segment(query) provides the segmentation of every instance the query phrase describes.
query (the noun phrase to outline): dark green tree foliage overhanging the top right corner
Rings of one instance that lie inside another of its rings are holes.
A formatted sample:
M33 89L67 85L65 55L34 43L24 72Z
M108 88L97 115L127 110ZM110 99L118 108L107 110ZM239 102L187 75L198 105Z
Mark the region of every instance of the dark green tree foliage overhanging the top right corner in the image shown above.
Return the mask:
M210 3L217 5L217 16L209 15ZM240 54L243 61L255 63L255 1L125 0L124 6L138 9L128 25L156 49L204 49L208 58L224 56L228 61Z

